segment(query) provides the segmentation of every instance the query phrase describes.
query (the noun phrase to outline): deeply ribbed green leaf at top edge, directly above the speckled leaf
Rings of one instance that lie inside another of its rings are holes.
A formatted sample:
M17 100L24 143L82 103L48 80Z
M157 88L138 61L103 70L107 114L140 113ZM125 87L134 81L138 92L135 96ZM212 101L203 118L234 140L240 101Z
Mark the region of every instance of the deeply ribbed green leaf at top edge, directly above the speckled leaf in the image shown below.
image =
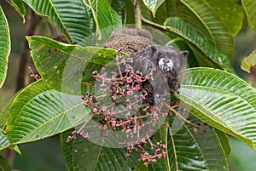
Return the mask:
M93 19L83 0L24 0L36 13L56 26L69 43L87 45Z

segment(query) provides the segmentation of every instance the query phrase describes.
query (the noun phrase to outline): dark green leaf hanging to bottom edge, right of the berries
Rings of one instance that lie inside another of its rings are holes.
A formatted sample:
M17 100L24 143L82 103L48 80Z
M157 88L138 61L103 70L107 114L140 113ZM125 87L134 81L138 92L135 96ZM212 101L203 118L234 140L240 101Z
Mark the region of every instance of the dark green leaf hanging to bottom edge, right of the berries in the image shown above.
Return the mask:
M135 171L228 170L227 158L216 129L204 126L192 115L187 119L201 124L198 132L195 133L193 125L172 116L169 126L160 128L160 137L166 144L165 162L151 163L148 168L140 164Z

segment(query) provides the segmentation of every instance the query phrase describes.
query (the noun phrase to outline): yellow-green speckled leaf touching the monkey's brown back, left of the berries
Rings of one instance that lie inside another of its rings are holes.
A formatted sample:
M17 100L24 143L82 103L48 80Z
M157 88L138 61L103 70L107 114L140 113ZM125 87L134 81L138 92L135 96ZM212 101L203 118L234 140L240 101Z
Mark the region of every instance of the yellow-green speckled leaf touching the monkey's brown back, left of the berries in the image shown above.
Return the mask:
M27 40L32 48L32 60L41 77L51 88L64 93L76 92L81 88L81 82L85 86L93 86L90 84L94 81L90 77L91 72L98 71L116 56L112 49L80 47L46 37L27 37Z

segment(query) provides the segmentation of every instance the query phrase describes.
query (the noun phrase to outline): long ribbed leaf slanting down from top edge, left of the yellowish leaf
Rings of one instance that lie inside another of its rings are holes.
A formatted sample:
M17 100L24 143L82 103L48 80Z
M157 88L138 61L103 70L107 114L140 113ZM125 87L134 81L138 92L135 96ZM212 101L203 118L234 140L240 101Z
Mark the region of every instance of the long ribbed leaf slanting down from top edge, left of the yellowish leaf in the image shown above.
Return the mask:
M206 0L179 0L180 16L207 37L229 59L233 57L234 40Z

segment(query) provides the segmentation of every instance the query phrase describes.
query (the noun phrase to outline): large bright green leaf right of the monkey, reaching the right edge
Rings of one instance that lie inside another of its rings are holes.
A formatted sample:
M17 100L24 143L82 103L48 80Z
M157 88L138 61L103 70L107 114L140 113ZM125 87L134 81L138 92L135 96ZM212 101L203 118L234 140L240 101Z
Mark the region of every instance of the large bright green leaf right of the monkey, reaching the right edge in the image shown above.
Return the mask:
M186 72L179 95L193 115L255 150L255 88L226 71L194 68Z

